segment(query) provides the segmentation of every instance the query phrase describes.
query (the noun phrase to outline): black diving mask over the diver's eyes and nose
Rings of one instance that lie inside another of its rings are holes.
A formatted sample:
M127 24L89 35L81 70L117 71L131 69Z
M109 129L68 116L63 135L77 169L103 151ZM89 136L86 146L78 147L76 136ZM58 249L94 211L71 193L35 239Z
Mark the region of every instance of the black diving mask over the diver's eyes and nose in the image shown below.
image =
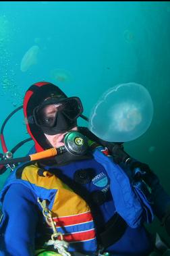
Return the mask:
M83 111L78 97L55 99L51 97L33 111L34 123L46 134L57 134L76 126L76 120Z

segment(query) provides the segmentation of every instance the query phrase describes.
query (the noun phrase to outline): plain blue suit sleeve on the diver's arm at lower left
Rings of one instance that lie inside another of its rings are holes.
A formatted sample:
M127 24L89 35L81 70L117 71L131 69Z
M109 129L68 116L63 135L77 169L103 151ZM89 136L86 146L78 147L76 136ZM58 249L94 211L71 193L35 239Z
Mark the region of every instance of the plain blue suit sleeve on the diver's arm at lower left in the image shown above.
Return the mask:
M33 256L38 207L36 197L22 184L11 184L5 194L0 224L1 256Z

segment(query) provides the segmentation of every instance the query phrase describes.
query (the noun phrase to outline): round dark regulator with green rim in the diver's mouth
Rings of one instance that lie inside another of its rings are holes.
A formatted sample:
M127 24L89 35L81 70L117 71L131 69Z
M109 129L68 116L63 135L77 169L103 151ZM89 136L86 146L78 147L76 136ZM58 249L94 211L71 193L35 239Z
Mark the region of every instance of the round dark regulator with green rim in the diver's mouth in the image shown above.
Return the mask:
M88 139L80 132L69 132L64 138L65 149L74 155L84 155L88 149Z

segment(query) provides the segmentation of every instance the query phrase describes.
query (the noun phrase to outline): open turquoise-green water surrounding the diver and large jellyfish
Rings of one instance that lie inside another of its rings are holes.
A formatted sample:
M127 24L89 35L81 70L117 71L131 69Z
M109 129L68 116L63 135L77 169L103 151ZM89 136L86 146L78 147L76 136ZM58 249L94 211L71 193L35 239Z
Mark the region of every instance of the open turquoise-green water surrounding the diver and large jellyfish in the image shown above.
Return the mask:
M86 116L115 84L142 84L154 103L152 124L125 143L125 150L148 163L170 194L169 28L170 2L1 2L1 124L22 105L34 82L53 82L68 96L80 97ZM32 65L23 72L22 58L34 45L38 54L27 60ZM8 149L28 138L22 111L7 123L4 135ZM15 157L24 156L31 145ZM8 174L0 177L0 188ZM169 239L157 220L149 229Z

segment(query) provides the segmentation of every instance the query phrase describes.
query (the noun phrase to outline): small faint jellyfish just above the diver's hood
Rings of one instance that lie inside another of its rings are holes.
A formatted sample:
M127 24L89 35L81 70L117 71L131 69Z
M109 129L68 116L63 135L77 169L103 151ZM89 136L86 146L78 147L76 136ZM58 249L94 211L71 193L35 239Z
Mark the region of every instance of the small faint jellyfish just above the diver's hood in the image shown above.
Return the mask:
M72 76L66 70L55 68L54 70L51 70L51 78L55 82L70 82Z

